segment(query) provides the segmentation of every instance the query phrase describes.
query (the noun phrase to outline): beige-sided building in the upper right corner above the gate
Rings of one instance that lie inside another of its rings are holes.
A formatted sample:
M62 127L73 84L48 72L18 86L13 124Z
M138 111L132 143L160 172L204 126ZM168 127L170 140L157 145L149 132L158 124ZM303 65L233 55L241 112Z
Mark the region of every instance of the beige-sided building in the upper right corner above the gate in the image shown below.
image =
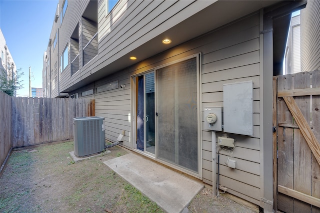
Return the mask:
M320 1L308 0L300 14L301 71L320 70Z

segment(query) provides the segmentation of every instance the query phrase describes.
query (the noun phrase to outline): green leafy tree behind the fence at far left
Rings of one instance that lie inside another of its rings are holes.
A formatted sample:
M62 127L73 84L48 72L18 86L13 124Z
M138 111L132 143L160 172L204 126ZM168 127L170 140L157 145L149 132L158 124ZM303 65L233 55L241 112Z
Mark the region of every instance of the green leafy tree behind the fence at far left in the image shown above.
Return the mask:
M14 96L16 91L23 88L20 77L23 75L21 68L13 71L13 67L8 68L8 72L1 68L0 70L0 91Z

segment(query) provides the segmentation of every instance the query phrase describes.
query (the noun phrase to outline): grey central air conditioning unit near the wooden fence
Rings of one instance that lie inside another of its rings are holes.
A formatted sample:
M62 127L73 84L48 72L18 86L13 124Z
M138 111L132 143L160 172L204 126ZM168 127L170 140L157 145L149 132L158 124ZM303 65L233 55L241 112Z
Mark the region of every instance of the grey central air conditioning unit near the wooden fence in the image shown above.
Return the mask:
M73 118L74 154L77 157L104 150L105 135L103 117Z

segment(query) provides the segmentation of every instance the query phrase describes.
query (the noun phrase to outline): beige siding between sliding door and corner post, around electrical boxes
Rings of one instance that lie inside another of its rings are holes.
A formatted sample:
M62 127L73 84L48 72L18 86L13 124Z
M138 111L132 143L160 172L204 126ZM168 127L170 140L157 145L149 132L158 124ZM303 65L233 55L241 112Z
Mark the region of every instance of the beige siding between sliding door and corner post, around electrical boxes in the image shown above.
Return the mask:
M253 81L253 136L228 134L236 140L232 152L220 151L220 183L228 192L259 205L260 197L260 44L258 15L244 18L213 32L215 45L202 51L202 112L204 107L223 106L223 84ZM238 33L241 31L241 33ZM213 50L214 49L214 50ZM213 51L212 51L213 50ZM203 114L202 114L203 116ZM202 126L203 124L202 117ZM222 134L217 134L222 136ZM212 184L211 132L202 130L203 182ZM218 149L219 147L217 147ZM225 166L228 156L236 169Z

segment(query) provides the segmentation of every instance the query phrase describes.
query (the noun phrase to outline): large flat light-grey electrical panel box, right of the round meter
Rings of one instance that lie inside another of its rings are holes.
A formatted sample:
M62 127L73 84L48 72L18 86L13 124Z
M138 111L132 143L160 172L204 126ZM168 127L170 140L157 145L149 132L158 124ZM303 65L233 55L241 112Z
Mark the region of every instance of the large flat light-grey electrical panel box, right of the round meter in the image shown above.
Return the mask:
M253 82L223 84L223 131L253 135Z

